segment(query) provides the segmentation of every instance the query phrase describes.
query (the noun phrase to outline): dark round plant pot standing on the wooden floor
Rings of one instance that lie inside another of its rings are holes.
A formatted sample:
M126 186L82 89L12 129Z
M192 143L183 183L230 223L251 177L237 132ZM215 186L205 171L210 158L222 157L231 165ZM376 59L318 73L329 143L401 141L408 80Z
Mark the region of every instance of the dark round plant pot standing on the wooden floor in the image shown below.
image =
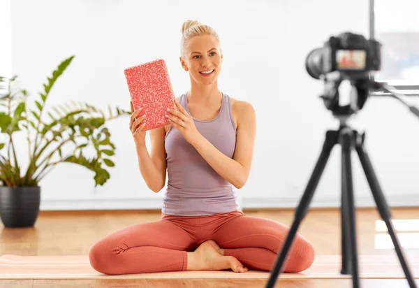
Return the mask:
M0 186L0 217L6 227L34 226L41 203L41 187Z

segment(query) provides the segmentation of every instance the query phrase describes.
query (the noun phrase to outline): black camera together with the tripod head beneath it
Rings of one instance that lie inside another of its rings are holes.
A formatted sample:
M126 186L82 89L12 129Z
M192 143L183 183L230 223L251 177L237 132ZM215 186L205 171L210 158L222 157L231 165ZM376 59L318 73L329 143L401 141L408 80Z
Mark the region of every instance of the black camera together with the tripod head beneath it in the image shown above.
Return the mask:
M334 115L351 115L362 109L376 82L372 71L381 69L381 43L345 32L332 36L323 48L309 52L305 62L309 75L325 82L321 98ZM351 82L351 103L339 106L339 85Z

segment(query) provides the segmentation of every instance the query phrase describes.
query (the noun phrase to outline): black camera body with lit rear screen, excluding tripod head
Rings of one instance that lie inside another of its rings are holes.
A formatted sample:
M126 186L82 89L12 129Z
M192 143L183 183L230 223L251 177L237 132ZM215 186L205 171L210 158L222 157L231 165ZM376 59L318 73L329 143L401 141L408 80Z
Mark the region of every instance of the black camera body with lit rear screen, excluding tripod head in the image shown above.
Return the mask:
M315 79L334 71L348 79L365 78L381 68L381 43L345 32L330 37L323 48L311 50L305 65Z

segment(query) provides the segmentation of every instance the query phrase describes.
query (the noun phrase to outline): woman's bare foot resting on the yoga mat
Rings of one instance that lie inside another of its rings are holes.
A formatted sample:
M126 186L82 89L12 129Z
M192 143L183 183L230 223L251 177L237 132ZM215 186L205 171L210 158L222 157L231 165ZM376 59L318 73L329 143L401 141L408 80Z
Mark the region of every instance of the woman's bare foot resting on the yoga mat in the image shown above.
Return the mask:
M218 247L218 248L217 248ZM199 263L202 264L200 270L226 270L244 273L249 271L237 258L233 256L223 256L217 251L219 245L214 240L207 240L202 243L193 253L196 253Z

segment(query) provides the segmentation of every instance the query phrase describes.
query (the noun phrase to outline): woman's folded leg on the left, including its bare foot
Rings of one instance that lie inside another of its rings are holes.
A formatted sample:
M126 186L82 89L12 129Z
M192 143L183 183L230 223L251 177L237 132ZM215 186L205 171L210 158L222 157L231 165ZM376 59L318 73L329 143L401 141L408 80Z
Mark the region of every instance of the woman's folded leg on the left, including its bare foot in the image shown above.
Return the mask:
M89 250L91 267L108 274L226 270L246 272L235 257L223 256L213 240L169 220L128 226L101 239Z

